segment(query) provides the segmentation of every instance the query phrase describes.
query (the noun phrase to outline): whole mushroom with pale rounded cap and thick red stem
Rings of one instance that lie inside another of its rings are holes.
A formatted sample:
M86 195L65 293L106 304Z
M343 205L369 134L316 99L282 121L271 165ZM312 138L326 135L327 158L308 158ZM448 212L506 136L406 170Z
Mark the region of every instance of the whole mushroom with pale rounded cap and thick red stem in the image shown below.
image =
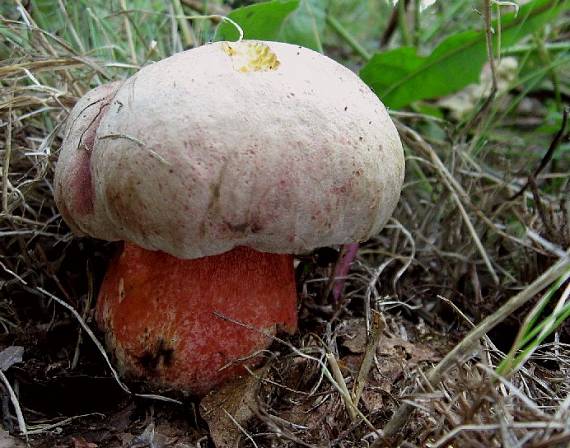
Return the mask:
M122 373L203 394L295 330L292 254L377 234L403 176L397 131L350 70L217 42L81 98L55 195L75 233L125 241L96 310Z

